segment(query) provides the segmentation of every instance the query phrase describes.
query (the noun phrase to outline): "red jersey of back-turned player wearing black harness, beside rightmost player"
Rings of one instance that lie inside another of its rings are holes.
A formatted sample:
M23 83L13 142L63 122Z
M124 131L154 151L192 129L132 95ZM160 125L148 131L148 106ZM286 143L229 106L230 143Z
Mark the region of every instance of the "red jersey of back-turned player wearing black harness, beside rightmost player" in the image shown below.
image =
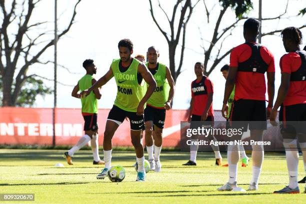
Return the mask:
M253 48L253 46L256 46L256 48ZM239 64L246 61L248 61L246 70L239 71ZM256 42L246 42L234 47L230 52L229 66L238 67L235 78L234 100L265 100L264 72L275 72L274 56L265 46ZM247 70L247 68L250 70ZM257 69L261 70L258 71Z

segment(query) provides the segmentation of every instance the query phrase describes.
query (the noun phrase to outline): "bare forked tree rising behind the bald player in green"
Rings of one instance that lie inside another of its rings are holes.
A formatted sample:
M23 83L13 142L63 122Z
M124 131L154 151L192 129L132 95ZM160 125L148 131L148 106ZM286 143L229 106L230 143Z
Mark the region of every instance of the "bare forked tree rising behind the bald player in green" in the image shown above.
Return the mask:
M191 0L177 0L176 3L173 6L173 11L172 11L172 16L171 19L169 18L168 14L165 12L165 10L162 8L159 0L158 1L158 6L161 9L161 11L164 13L167 22L169 23L169 28L170 28L170 34L164 31L159 23L157 22L155 18L155 14L153 11L153 6L151 0L149 0L150 4L150 12L152 19L154 23L157 25L159 31L162 33L162 35L165 37L167 43L168 43L168 51L169 51L169 69L171 71L172 77L174 81L176 81L177 76L181 72L181 65L183 62L183 54L184 54L184 49L185 49L185 36L186 36L186 27L187 23L191 17L192 10L194 6L199 2L197 0L194 5L192 5ZM180 6L180 15L178 19L178 24L177 27L175 27L175 15L177 12L177 7ZM176 68L175 66L175 52L176 52L176 47L180 41L182 41L181 49L180 49L180 59L179 59L179 64L178 67Z

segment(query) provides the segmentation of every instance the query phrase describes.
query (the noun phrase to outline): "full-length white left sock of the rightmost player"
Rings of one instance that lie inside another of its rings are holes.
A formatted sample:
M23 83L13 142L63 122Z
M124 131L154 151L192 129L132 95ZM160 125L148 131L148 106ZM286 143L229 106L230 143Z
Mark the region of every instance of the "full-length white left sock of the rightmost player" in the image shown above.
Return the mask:
M297 183L298 151L296 139L283 139L286 150L287 168L289 174L289 187L295 188Z

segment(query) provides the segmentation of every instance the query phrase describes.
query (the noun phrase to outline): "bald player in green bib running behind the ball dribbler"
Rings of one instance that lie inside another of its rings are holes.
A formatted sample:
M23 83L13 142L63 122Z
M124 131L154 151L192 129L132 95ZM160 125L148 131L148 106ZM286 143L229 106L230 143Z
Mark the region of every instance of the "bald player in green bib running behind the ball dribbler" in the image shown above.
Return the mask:
M147 49L146 57L148 59L146 66L156 80L157 86L153 94L147 100L146 108L144 109L145 145L148 153L150 170L159 172L161 171L159 155L162 145L162 129L166 110L170 109L173 99L174 80L169 68L157 61L159 51L156 47L150 46ZM166 87L167 85L170 86L169 90Z

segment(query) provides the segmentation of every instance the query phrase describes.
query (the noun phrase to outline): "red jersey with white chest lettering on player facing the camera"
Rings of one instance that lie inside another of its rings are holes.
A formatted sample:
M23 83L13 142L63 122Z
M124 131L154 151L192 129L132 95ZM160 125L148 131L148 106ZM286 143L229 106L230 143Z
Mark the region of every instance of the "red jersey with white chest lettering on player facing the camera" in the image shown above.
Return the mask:
M191 96L193 97L192 114L203 114L208 100L208 93L213 93L213 84L207 76L203 76L201 80L195 79L191 82ZM207 115L213 116L212 103Z

